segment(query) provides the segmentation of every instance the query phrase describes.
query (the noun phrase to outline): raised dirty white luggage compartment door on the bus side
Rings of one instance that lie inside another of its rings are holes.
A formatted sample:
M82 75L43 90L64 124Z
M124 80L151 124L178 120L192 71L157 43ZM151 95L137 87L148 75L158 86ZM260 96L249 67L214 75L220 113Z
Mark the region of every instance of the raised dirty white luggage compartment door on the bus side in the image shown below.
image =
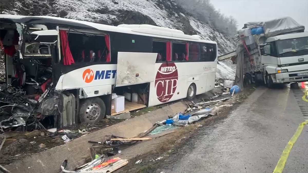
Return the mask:
M118 52L115 86L128 86L155 80L157 53Z

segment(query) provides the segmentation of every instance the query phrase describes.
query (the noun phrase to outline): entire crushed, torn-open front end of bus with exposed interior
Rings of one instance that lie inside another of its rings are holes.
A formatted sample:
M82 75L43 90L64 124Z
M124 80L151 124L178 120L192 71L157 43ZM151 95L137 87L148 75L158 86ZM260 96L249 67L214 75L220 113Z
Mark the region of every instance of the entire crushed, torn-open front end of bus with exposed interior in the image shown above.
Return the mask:
M0 42L6 63L6 82L0 84L2 132L4 130L31 131L59 125L57 115L61 114L58 108L61 104L59 103L61 102L60 91L54 91L52 87L52 58L34 58L31 52L28 53L32 58L23 57L24 54L22 54L25 51L22 46L25 44L24 40L32 39L31 34L25 34L30 27L33 26L1 21ZM33 46L33 49L36 48ZM34 70L35 76L26 75L25 68ZM9 74L8 71L10 71ZM12 71L15 73L14 76L10 75ZM52 119L48 118L50 115ZM45 127L44 120L48 122L45 123L47 124Z

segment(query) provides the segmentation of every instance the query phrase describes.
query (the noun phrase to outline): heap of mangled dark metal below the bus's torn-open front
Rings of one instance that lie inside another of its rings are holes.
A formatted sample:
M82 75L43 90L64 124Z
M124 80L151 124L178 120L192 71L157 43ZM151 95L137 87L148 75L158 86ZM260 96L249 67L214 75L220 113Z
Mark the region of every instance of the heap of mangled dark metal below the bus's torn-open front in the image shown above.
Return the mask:
M0 85L0 114L2 129L30 131L45 128L42 120L45 115L56 115L59 108L59 94L51 93L52 83L41 93L26 95L21 88L11 85Z

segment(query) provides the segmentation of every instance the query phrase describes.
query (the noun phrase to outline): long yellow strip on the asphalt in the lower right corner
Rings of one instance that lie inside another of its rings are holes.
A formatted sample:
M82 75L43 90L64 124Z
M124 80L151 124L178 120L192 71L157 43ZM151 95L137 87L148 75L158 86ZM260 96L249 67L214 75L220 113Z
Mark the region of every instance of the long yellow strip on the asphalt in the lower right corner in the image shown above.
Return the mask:
M301 135L302 130L305 126L305 124L308 123L308 120L306 120L305 122L302 122L299 124L296 132L294 133L294 135L292 136L292 138L290 139L290 141L288 142L287 146L285 147L285 149L282 151L282 155L280 156L280 159L273 171L273 173L282 173L283 168L285 167L286 161L289 157L290 151L294 145L294 143L296 142L296 140L298 139L299 135Z

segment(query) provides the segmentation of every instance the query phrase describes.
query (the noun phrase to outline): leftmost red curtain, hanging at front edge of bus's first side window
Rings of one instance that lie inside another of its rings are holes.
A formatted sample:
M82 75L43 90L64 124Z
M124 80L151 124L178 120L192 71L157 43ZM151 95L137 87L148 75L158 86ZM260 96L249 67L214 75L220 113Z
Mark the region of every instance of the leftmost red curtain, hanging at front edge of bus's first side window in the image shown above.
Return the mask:
M72 56L70 47L68 45L67 33L65 30L60 30L60 40L62 45L63 64L64 65L74 64L75 61Z

